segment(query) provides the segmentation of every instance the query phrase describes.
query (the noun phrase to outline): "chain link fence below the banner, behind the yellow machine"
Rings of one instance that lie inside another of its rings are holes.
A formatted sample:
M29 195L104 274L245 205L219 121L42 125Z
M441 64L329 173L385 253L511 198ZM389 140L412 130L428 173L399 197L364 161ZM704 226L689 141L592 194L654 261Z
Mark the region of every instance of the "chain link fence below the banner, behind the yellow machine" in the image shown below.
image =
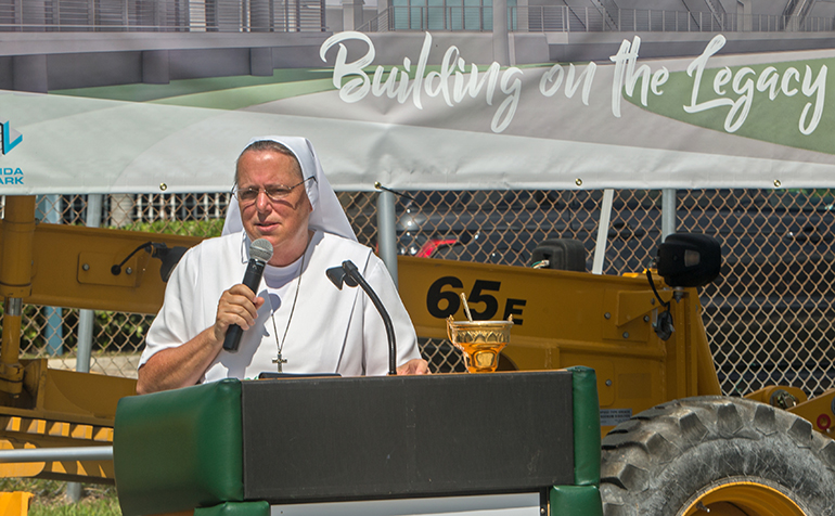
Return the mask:
M602 191L406 192L397 201L401 254L529 265L545 238L574 238L591 270ZM339 192L361 243L376 245L376 195ZM102 225L214 236L228 194L111 195ZM659 191L615 192L604 273L641 271L660 241ZM704 322L725 394L786 384L820 394L832 385L835 310L833 206L828 190L679 191L678 231L712 235L723 269L702 291ZM39 218L84 224L85 196L44 196ZM25 307L22 352L75 367L78 310ZM91 371L136 375L152 315L94 312ZM446 340L422 339L434 371L463 371Z

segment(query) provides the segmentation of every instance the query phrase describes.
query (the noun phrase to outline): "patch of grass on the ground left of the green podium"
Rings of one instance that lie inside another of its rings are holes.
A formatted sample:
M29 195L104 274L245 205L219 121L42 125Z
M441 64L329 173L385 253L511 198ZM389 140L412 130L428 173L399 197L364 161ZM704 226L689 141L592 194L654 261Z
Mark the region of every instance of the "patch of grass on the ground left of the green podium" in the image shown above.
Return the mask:
M29 516L118 516L116 488L84 485L82 498L74 503L66 495L66 482L31 478L0 478L0 491L33 493Z

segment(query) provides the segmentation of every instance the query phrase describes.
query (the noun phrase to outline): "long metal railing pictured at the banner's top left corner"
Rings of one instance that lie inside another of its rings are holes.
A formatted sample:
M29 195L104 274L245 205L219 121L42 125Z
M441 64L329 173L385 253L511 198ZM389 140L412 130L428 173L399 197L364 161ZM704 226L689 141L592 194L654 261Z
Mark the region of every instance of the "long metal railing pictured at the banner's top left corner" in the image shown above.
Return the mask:
M0 31L323 31L324 11L324 0L0 0Z

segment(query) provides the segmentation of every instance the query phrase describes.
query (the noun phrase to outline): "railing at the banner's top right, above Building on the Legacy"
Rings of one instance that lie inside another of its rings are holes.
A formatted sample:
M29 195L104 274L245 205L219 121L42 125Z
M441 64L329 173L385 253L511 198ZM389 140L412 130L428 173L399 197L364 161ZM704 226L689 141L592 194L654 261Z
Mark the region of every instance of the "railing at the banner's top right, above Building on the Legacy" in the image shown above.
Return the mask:
M729 14L717 12L571 8L567 5L512 7L509 29L530 33L820 33L835 30L835 20L802 15ZM489 7L391 7L370 20L360 31L492 30Z

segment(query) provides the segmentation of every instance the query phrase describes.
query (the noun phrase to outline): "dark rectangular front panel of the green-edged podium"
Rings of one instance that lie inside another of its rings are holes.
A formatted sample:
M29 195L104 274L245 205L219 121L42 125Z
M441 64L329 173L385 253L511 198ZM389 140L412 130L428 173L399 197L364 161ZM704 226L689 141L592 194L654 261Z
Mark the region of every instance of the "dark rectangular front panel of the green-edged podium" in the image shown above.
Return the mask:
M575 480L567 371L245 382L242 416L246 500L518 492Z

